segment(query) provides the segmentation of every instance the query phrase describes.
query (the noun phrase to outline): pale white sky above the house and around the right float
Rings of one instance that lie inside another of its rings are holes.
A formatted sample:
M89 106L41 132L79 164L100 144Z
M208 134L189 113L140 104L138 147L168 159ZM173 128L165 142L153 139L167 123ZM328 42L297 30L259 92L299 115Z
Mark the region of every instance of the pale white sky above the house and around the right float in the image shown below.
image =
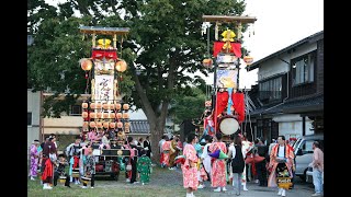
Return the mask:
M46 0L50 4L63 1L65 0ZM257 19L244 34L242 43L253 57L253 62L324 30L322 0L245 0L245 2L247 5L242 15L248 14ZM250 89L257 83L258 69L247 72L245 67L242 62L239 89ZM203 78L207 84L213 84L213 74Z

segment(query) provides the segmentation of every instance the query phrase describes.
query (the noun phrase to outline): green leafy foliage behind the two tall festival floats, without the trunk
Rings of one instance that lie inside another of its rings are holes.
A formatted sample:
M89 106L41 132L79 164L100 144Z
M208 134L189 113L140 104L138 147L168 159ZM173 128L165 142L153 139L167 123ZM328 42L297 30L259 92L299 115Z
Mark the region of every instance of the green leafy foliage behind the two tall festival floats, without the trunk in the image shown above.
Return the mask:
M50 88L57 93L69 88L70 94L84 93L84 72L78 61L90 57L91 40L89 36L82 39L79 25L129 27L123 42L118 37L118 56L128 63L120 88L132 105L145 107L140 92L133 88L137 78L156 115L161 103L191 93L190 85L205 89L202 79L188 76L208 73L201 65L207 50L207 36L201 34L202 15L241 15L245 10L245 1L231 0L73 0L57 8L30 0L27 5L29 34L34 36L34 45L27 50L29 86ZM81 16L75 16L75 12ZM226 27L234 28L234 24L223 24L222 28ZM214 25L211 32L212 46ZM50 107L46 106L48 112L44 114L64 112L67 106L63 104L68 103L49 100L46 105Z

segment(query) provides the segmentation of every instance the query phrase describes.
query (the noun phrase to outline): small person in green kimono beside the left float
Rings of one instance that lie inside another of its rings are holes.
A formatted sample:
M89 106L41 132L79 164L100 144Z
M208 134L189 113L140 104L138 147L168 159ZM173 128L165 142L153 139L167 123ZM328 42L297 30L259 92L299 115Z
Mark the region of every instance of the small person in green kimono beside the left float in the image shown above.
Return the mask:
M146 155L146 150L141 150L141 157L137 161L137 171L140 173L140 182L143 185L150 182L150 174L152 172L151 160Z

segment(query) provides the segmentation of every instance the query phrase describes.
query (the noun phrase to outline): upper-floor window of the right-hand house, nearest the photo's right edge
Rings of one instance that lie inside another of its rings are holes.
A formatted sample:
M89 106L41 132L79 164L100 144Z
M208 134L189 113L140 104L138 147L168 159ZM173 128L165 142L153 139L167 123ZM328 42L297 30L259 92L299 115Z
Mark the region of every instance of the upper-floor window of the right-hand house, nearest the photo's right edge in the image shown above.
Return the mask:
M293 85L314 81L315 57L316 51L313 51L292 60Z

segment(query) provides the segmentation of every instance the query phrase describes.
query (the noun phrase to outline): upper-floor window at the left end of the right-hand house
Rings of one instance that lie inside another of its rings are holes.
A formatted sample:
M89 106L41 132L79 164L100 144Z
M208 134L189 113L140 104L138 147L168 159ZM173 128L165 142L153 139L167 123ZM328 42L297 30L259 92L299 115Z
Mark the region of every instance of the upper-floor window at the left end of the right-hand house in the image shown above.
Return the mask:
M260 83L260 100L282 99L282 77Z

